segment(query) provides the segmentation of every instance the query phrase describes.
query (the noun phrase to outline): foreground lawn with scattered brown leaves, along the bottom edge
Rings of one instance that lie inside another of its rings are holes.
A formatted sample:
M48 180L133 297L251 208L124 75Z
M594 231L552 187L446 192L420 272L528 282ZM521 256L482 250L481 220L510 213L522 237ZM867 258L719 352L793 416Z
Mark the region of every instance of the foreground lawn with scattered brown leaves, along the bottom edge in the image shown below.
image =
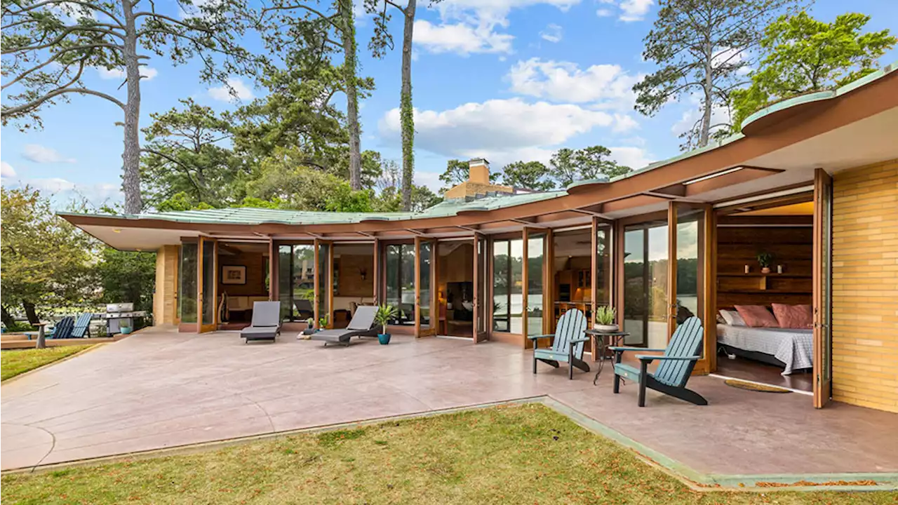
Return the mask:
M892 492L696 492L541 404L199 454L0 476L0 503L894 503Z

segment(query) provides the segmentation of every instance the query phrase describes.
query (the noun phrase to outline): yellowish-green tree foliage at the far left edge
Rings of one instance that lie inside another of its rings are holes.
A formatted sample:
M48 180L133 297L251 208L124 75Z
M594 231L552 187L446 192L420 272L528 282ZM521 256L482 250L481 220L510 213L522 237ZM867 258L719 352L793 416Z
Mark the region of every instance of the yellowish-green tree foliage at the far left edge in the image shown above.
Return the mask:
M91 241L37 190L0 186L0 307L79 303L90 296ZM5 324L12 323L5 320Z

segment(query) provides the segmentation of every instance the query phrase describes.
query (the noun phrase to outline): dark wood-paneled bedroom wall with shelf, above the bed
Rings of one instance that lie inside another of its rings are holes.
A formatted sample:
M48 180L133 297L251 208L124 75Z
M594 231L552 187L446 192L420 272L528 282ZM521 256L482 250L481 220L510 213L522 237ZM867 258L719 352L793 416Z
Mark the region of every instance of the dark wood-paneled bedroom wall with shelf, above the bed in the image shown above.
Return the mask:
M813 234L811 226L718 226L718 308L810 304ZM768 275L758 264L762 252L773 254Z

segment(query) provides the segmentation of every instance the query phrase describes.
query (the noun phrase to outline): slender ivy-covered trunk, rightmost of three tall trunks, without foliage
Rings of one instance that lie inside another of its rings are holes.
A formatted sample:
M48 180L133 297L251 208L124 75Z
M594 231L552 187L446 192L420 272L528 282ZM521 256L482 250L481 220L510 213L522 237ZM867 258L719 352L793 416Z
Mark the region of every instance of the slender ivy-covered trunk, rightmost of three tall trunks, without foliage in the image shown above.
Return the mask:
M402 210L411 210L411 184L415 176L415 110L411 102L411 41L415 28L418 0L409 0L402 31L402 92L400 121L402 128Z

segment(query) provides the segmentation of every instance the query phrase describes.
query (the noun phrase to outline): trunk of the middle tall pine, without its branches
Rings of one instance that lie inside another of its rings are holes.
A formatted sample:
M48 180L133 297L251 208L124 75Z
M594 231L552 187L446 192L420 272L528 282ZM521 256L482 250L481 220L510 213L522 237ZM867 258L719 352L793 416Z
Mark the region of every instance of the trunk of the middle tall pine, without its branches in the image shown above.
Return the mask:
M346 87L346 117L349 129L349 186L353 190L361 190L362 146L358 126L356 22L353 19L352 0L339 0L339 14L342 19L340 33L343 42L343 81Z

